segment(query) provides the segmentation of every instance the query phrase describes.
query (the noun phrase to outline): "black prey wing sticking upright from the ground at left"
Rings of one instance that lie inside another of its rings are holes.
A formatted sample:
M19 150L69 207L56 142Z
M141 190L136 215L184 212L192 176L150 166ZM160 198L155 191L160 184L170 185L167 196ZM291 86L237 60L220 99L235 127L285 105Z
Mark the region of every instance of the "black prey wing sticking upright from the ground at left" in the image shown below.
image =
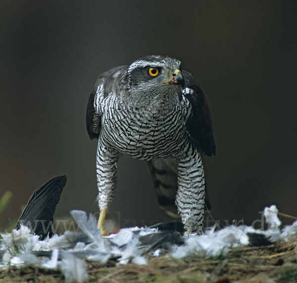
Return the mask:
M20 228L23 224L41 238L52 236L53 214L66 182L65 175L57 176L36 189L18 220L16 228Z

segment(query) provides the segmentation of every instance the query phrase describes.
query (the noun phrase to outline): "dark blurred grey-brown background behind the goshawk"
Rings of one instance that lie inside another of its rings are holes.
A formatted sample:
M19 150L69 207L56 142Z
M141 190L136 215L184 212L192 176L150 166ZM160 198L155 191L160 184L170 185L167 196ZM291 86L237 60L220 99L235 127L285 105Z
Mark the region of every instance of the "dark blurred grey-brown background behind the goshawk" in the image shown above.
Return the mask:
M271 204L297 216L296 1L1 0L0 39L0 196L13 193L4 225L61 174L56 215L98 212L88 97L101 72L148 54L180 59L207 97L213 217L251 223ZM120 159L110 213L120 226L169 219L145 161Z

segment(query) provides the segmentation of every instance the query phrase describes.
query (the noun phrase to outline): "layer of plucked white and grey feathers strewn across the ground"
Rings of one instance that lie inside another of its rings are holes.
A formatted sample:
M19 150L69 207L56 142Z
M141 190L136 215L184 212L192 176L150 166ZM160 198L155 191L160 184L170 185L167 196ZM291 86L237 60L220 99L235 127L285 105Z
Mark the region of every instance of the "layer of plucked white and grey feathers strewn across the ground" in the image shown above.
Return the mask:
M297 221L280 231L277 208L265 208L268 230L257 230L251 226L228 226L216 230L212 227L202 235L181 236L176 224L162 223L152 227L121 229L119 233L103 237L97 228L94 216L83 211L71 212L82 232L67 231L63 235L40 237L29 228L20 225L18 230L0 236L0 268L9 265L36 266L60 269L66 282L87 282L84 260L106 265L108 260L121 264L129 262L146 264L146 254L164 254L167 249L175 258L188 255L218 257L226 255L230 248L246 245L266 245L277 239L290 239L297 234ZM169 230L166 230L168 228Z

